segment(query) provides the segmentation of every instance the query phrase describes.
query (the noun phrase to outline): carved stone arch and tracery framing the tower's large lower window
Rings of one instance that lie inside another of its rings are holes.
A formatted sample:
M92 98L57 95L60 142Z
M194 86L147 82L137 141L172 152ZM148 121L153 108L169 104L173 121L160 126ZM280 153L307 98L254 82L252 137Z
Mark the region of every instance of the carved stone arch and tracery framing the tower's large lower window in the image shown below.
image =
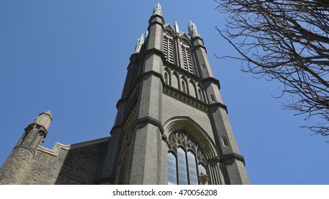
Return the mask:
M207 172L209 176L208 183L215 185L224 182L216 144L199 124L189 117L173 117L167 120L163 127L164 136L167 136L168 154L175 154L175 151L177 151L175 156L181 154L182 157L182 153L179 153L179 148L182 148L183 151L193 151L192 154L194 154L194 158L197 161L197 170L198 172ZM185 154L185 156L188 155ZM170 173L170 176L172 176L172 173Z

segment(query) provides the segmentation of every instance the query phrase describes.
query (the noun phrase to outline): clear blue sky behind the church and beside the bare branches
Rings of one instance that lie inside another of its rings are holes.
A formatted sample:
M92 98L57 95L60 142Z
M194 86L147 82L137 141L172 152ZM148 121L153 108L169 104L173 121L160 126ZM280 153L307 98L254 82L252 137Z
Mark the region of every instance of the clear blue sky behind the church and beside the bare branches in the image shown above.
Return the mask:
M48 109L43 146L109 136L127 64L157 1L0 1L0 165L23 129ZM310 136L303 117L282 110L277 82L240 71L216 32L224 15L214 1L160 1L164 20L187 32L196 23L229 109L253 184L329 184L328 138Z

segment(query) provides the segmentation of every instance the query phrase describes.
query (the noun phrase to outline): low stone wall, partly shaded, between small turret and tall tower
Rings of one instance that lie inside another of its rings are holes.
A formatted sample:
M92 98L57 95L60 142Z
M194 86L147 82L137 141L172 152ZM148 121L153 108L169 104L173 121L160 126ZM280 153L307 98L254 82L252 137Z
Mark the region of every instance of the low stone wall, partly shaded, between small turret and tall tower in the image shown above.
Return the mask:
M59 149L59 153L38 150L21 184L97 184L109 141Z

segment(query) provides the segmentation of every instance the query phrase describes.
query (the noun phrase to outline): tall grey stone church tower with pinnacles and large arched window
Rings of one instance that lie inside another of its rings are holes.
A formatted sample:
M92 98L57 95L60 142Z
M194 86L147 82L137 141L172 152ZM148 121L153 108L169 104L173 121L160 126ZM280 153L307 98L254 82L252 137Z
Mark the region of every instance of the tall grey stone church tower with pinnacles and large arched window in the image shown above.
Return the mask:
M249 184L207 50L157 4L130 57L103 184Z

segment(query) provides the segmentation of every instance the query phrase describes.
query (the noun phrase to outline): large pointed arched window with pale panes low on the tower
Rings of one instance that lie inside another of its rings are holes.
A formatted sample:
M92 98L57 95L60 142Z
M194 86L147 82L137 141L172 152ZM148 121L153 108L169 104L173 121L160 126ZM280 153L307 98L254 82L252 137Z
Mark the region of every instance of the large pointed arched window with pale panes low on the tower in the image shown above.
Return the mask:
M206 158L197 141L183 129L170 134L168 146L168 184L198 185L206 171Z

